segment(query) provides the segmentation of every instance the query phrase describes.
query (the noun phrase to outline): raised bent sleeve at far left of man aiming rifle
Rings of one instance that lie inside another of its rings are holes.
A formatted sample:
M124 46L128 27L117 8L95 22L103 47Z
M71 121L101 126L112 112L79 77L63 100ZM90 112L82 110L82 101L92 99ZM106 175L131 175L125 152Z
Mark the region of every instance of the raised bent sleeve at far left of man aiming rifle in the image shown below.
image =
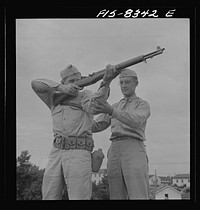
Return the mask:
M31 86L41 100L51 109L53 103L53 91L60 83L48 79L36 79L31 82Z

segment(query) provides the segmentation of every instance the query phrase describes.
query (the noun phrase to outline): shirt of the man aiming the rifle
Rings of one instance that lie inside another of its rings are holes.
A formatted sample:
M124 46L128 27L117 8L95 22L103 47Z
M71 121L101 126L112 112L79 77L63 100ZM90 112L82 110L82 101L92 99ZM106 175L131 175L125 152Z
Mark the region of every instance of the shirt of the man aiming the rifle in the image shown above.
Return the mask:
M109 88L102 87L95 94L90 90L80 91L75 98L70 100L82 107L79 109L62 103L53 105L53 92L59 85L60 83L48 79L37 79L32 82L33 90L51 110L54 134L62 134L66 137L91 136L92 122L96 114L90 109L91 98L107 99Z

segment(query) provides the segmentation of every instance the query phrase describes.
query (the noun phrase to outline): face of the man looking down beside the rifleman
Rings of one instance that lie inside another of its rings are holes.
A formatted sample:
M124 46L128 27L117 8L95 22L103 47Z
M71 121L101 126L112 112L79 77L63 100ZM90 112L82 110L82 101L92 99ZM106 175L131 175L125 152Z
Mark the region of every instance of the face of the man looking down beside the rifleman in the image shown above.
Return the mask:
M120 78L119 85L122 91L122 94L126 97L130 97L135 94L135 88L138 82L133 77L124 77Z

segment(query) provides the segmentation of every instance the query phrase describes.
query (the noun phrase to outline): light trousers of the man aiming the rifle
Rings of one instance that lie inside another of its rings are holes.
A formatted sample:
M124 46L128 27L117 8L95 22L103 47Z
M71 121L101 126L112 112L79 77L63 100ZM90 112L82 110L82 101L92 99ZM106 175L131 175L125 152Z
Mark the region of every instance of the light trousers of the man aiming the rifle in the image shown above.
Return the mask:
M67 185L69 200L89 200L92 193L91 153L53 147L45 169L43 200L61 200Z

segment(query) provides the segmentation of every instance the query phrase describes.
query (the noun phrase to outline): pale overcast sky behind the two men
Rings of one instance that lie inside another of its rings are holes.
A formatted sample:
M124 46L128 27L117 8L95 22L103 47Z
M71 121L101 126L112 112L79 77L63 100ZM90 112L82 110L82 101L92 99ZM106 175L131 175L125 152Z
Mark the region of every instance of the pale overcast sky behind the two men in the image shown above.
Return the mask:
M187 18L16 19L17 156L28 150L30 161L45 168L53 142L50 110L32 90L32 80L60 82L69 64L87 76L160 46L163 54L130 67L139 78L137 96L151 108L145 141L149 173L190 173L189 33ZM118 80L111 83L110 104L123 98ZM99 84L85 88L95 92ZM110 127L93 135L94 149L105 154L102 168L110 135Z

